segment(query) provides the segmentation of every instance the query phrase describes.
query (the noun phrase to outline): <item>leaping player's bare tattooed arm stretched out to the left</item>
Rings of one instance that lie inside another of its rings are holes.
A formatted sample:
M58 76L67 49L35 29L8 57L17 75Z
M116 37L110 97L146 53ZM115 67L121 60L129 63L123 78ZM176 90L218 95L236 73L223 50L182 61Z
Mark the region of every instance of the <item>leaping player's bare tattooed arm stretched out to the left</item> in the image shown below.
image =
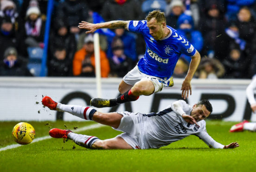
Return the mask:
M109 21L104 23L88 23L86 21L81 21L79 23L78 28L79 29L87 29L86 33L92 33L95 32L97 29L101 28L109 28L109 29L116 29L116 28L123 28L126 29L128 21L122 21L122 20L115 20L115 21Z

